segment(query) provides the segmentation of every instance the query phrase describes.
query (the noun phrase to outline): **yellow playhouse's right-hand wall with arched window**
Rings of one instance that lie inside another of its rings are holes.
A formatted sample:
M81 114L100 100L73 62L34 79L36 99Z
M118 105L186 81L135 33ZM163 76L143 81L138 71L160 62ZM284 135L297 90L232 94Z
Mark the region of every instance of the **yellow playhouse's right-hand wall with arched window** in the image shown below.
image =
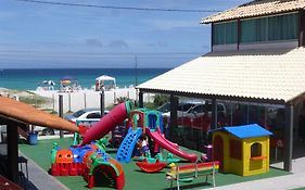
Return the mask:
M255 142L262 144L262 156L266 159L251 160L251 145ZM251 176L269 172L269 137L256 137L243 140L243 173L242 176Z

